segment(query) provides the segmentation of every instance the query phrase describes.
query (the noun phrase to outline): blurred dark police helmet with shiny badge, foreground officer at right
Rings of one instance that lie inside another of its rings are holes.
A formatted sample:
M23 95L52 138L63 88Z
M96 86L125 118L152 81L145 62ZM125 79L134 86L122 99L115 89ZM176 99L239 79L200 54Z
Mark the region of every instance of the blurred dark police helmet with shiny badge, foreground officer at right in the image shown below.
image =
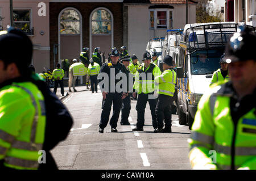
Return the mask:
M256 61L255 42L255 29L240 26L226 45L224 61L228 64L246 60Z

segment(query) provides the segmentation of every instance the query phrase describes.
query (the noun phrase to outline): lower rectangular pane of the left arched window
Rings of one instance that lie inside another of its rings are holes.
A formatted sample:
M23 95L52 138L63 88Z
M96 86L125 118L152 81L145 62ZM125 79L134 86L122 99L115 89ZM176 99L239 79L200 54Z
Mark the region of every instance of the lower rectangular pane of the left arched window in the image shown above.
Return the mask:
M80 34L80 22L60 22L61 35Z

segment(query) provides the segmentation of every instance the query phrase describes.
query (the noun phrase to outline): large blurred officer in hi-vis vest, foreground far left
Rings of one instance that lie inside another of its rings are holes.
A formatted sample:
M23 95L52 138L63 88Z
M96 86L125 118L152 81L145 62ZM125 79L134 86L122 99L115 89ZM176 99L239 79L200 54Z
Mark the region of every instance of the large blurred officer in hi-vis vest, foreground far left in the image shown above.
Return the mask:
M22 31L9 29L0 32L0 49L0 169L36 170L46 112L42 92L30 80L32 43Z

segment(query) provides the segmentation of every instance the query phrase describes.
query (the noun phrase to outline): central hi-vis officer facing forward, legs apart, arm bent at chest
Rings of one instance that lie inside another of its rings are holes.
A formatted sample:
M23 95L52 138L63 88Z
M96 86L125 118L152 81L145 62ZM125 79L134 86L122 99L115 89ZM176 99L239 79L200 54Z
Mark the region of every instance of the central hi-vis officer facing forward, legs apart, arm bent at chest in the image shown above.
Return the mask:
M155 106L157 98L155 98L155 81L154 78L160 75L160 69L155 64L151 63L150 53L145 52L143 54L144 64L139 65L137 73L135 75L134 89L137 90L139 96L136 104L137 110L137 127L133 131L143 131L144 126L144 113L147 102L150 104L150 111L152 116L152 125L154 129L157 128ZM135 92L133 92L135 97Z

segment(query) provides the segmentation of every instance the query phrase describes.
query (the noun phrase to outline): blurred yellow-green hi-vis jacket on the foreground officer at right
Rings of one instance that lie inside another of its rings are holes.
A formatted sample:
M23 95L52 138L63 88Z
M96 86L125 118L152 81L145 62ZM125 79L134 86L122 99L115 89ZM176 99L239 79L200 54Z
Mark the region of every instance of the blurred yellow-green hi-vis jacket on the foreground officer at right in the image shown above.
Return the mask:
M232 142L235 138L234 168L256 169L256 110L253 108L240 117L234 133L230 95L216 93L220 87L213 87L200 99L192 136L188 140L192 168L231 169Z

